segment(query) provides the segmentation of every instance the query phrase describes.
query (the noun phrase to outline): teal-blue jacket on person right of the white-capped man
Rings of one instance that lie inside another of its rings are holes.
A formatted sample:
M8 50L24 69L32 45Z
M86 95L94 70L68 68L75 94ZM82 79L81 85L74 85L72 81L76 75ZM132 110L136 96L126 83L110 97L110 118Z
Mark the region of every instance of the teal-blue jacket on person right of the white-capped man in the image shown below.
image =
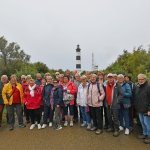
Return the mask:
M123 90L123 98L121 100L121 104L129 104L131 105L131 98L132 98L132 90L128 83L124 82L122 85Z

